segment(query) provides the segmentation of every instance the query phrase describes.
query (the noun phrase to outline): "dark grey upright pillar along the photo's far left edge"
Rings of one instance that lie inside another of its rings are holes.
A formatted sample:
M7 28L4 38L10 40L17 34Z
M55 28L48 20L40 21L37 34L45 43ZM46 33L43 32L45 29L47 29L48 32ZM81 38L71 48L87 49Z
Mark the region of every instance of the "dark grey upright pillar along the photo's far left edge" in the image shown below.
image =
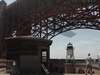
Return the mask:
M0 1L0 58L4 58L5 55L5 45L4 45L4 32L5 32L5 9L6 2L4 0Z

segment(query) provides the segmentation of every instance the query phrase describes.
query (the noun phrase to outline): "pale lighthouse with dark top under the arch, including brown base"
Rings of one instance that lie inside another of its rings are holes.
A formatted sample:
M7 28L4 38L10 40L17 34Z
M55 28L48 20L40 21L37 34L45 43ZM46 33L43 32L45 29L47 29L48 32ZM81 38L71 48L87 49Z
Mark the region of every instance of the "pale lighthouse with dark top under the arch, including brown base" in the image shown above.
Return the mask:
M67 44L66 48L66 63L65 73L75 73L75 61L74 61L74 47L71 42Z

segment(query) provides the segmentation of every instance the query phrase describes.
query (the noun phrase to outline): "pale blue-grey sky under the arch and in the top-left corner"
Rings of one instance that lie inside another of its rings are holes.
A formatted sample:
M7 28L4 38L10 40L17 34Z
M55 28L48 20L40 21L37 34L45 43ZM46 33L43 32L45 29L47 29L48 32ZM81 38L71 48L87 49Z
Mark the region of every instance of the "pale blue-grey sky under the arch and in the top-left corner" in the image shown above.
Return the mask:
M5 0L8 4L15 0ZM66 58L66 46L72 42L74 46L75 58L86 58L90 52L93 58L100 53L100 31L98 30L74 30L76 35L72 38L63 35L54 37L50 47L51 58ZM66 32L67 33L67 32Z

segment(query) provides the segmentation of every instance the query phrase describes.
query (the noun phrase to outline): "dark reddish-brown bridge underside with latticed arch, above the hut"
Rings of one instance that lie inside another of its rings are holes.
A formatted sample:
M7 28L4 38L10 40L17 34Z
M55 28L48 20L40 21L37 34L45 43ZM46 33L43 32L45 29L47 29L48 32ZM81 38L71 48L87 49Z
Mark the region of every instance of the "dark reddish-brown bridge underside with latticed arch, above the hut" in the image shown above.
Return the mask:
M6 37L52 39L73 29L100 29L99 0L17 0L4 12Z

